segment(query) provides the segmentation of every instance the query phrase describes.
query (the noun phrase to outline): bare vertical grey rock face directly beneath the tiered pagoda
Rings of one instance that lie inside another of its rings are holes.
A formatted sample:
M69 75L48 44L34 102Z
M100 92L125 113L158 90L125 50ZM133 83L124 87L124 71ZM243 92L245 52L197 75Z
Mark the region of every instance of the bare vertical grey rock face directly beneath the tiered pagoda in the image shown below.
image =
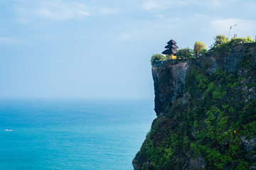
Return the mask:
M171 103L180 98L185 87L188 62L156 62L152 67L156 115L168 111Z

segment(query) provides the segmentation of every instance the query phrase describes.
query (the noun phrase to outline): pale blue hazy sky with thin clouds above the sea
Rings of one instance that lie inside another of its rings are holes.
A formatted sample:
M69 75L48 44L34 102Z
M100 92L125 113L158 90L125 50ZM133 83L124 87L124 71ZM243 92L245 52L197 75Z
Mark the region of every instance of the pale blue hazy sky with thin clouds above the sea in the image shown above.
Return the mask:
M255 0L0 0L0 98L154 99L150 58L255 39Z

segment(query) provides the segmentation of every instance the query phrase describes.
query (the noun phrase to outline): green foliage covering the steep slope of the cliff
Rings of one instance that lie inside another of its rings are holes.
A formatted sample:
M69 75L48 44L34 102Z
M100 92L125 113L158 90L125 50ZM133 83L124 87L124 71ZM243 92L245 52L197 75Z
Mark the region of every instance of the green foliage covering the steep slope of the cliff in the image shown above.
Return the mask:
M215 55L240 42L220 43ZM191 67L183 97L152 123L137 154L141 169L185 169L188 162L197 169L256 166L256 150L242 145L256 135L255 55L245 55L234 74L208 74L210 61Z

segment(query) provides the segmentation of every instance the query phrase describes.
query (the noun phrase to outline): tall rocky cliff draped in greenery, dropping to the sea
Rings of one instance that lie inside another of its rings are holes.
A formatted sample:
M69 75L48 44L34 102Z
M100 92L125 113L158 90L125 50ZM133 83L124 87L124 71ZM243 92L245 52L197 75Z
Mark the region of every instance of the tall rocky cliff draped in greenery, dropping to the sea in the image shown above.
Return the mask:
M256 169L256 43L152 67L157 118L134 169Z

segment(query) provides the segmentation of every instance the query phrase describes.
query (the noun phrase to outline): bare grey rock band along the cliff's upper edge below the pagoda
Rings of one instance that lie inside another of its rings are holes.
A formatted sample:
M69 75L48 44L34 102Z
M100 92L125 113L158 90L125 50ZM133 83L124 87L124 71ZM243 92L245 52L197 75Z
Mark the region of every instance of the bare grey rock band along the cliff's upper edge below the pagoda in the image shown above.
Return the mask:
M238 64L245 55L252 55L256 50L255 43L238 45L230 52L215 55L214 52L205 57L196 58L186 62L157 61L152 67L154 79L154 94L156 115L169 111L172 103L181 98L185 87L186 74L189 67L201 69L208 64L207 72L212 74L217 69L223 69L228 73L238 72ZM256 59L253 66L256 65ZM241 74L241 73L240 73Z

